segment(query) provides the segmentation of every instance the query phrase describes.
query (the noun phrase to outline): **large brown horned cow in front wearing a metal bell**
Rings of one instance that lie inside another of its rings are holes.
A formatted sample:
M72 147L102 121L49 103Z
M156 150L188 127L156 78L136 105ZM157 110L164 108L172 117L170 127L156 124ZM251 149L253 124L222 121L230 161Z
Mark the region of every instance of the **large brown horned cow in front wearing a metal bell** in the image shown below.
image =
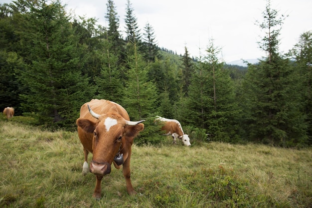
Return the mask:
M142 121L130 121L127 111L108 100L93 99L81 106L77 119L78 136L84 148L83 175L95 174L93 197L101 198L101 180L111 172L111 164L120 169L126 179L127 192L135 194L130 180L131 145L134 137L144 129ZM92 153L90 168L88 153Z

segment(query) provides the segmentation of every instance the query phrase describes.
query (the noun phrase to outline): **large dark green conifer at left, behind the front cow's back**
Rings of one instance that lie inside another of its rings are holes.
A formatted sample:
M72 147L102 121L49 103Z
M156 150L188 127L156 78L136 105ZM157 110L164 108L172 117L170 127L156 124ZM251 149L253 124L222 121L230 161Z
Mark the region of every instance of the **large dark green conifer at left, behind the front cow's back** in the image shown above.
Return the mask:
M74 127L81 104L93 96L94 89L81 75L84 51L69 23L70 17L59 1L19 3L21 9L27 8L22 14L24 21L20 22L23 27L17 31L28 65L25 70L16 71L27 87L21 94L22 106L37 113L41 124Z

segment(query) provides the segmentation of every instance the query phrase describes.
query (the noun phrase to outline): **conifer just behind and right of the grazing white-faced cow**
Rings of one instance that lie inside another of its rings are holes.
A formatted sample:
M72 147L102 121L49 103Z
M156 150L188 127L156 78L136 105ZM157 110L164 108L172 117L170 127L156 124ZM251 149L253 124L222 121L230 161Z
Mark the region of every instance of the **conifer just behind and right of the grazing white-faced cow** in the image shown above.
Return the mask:
M213 140L234 142L240 111L233 81L218 59L220 51L211 40L207 55L199 61L189 86L187 117L193 126L206 129Z

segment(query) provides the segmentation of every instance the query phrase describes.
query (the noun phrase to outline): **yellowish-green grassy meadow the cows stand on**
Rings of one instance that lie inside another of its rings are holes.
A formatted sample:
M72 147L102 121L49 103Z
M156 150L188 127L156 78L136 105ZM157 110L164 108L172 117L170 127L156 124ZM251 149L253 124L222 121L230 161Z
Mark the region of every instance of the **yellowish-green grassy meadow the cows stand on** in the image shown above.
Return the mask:
M121 170L81 174L77 133L0 121L2 208L311 208L312 149L196 142L133 146L129 196ZM91 159L92 155L90 155Z

